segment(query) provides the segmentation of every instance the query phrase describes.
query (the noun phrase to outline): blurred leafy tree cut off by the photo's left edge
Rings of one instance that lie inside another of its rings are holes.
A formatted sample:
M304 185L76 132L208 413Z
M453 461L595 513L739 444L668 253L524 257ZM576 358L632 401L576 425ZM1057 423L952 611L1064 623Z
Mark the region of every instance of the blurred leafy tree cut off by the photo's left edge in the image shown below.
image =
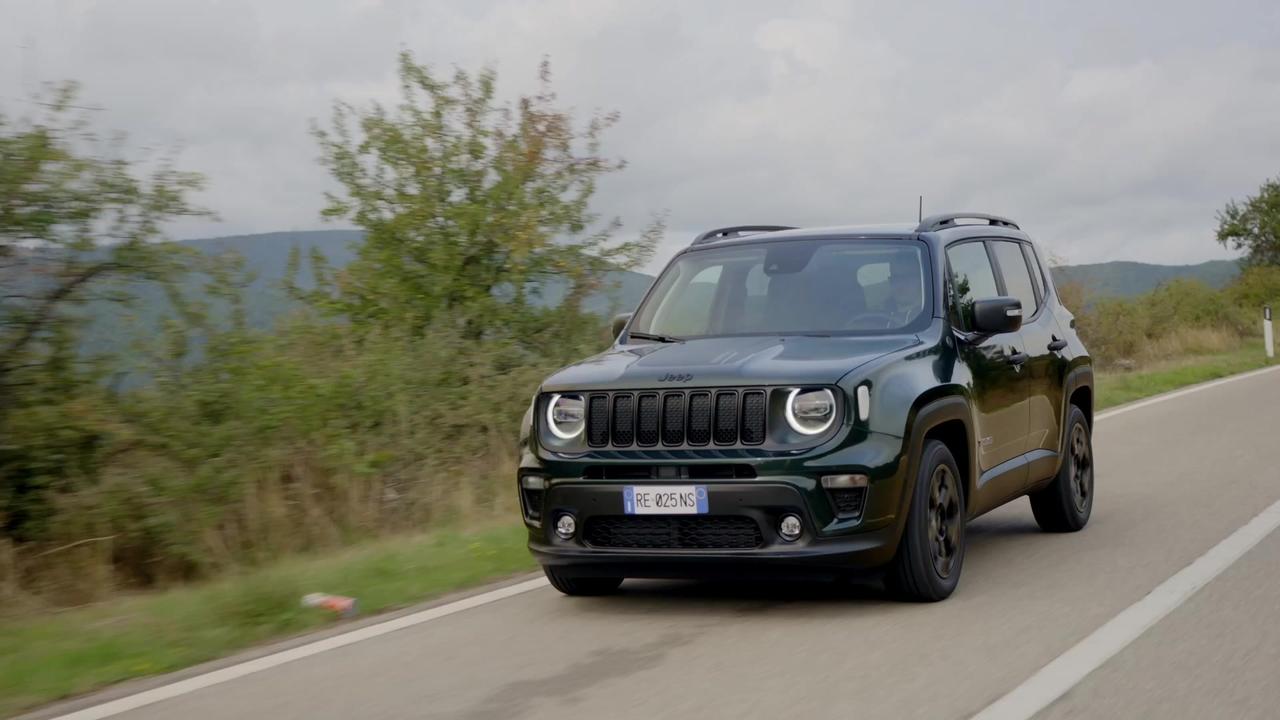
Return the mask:
M0 114L0 528L23 539L46 491L93 471L110 413L77 342L90 302L127 302L186 265L163 225L202 214L198 176L165 160L143 178L74 106L73 83L33 117ZM174 296L177 299L177 296Z

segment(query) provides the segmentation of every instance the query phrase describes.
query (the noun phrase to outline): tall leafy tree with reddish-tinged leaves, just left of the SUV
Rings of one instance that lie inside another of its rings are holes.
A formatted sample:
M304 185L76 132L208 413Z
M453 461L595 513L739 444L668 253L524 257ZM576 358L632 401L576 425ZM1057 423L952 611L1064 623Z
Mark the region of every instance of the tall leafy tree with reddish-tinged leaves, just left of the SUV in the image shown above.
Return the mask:
M472 338L527 337L548 281L576 310L609 270L648 258L660 223L616 242L620 222L600 223L589 206L599 178L622 168L600 155L617 115L577 127L557 106L547 61L539 79L509 105L492 69L444 79L401 53L396 108L338 102L332 127L314 128L342 187L324 215L366 234L340 273L314 258L311 300L357 324L421 331L447 318Z

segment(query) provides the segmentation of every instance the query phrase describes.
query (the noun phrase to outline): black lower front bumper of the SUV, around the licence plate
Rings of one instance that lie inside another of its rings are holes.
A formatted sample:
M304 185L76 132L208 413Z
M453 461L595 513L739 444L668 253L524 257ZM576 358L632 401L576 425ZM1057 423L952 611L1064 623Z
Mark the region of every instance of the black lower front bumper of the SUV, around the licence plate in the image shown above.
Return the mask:
M584 536L595 519L623 516L622 480L566 479L552 482L541 502L541 523L530 523L529 550L543 565L571 569L575 575L625 578L840 577L887 564L897 548L900 525L893 518L855 523L831 516L822 489L809 478L751 480L681 480L707 487L708 514L682 518L748 518L759 528L755 547L634 548L596 547ZM882 486L881 491L888 489ZM876 493L876 488L869 489ZM872 507L878 503L870 503ZM571 512L577 534L556 536L556 519ZM795 514L804 533L794 542L778 536L778 521ZM630 516L637 518L637 516ZM649 518L649 516L645 516Z

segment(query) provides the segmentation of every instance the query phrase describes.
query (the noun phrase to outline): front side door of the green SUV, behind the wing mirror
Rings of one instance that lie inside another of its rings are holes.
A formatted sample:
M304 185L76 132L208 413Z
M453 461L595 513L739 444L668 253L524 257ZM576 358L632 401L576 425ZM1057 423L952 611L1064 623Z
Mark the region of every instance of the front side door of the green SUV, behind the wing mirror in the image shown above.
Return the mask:
M978 451L975 511L998 505L1025 487L1025 464L1014 462L1027 447L1027 380L1021 365L1020 332L974 332L975 300L1005 295L986 241L963 241L947 247L951 323L961 363L969 369ZM1007 465L1005 465L1007 464Z

